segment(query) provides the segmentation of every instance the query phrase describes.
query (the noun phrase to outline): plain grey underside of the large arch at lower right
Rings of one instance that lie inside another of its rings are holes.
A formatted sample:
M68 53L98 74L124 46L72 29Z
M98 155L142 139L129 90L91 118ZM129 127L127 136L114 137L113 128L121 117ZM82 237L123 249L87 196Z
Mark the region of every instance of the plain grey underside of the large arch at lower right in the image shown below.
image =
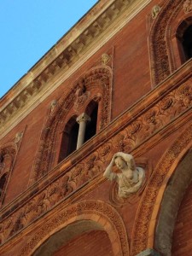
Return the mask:
M154 247L165 256L172 254L172 233L183 195L192 180L191 166L192 151L189 150L172 173L160 204Z

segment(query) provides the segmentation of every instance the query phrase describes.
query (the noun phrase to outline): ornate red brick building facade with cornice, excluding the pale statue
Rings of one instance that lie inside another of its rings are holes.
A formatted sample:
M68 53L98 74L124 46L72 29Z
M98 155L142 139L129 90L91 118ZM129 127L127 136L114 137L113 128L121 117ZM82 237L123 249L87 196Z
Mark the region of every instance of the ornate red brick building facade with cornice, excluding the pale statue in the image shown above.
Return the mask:
M191 0L101 0L3 96L0 255L191 255L190 38Z

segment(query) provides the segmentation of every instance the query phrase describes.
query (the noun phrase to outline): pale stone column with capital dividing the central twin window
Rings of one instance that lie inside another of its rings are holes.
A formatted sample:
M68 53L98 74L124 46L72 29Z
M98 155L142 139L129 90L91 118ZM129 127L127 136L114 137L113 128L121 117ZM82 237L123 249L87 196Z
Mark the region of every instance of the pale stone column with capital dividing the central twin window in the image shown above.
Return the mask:
M77 149L79 149L84 144L84 133L86 129L86 123L90 121L90 117L86 113L81 113L76 120L79 123L79 134L77 143Z

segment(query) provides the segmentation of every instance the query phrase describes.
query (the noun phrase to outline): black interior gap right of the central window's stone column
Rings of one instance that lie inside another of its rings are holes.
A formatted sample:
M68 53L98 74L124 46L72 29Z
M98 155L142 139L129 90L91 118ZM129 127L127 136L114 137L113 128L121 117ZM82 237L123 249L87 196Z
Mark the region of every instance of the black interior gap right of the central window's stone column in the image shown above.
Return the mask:
M97 123L97 114L98 114L98 104L95 102L92 106L92 112L89 113L90 122L86 125L86 131L84 135L84 143L87 142L91 137L96 135L96 123Z

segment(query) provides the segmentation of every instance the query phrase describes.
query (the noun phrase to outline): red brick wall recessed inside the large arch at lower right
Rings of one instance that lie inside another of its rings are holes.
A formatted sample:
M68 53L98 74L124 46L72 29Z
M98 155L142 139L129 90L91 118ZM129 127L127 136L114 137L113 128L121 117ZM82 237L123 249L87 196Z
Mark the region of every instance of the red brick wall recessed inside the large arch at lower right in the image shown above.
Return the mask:
M187 189L177 214L173 231L172 256L192 254L192 183Z

